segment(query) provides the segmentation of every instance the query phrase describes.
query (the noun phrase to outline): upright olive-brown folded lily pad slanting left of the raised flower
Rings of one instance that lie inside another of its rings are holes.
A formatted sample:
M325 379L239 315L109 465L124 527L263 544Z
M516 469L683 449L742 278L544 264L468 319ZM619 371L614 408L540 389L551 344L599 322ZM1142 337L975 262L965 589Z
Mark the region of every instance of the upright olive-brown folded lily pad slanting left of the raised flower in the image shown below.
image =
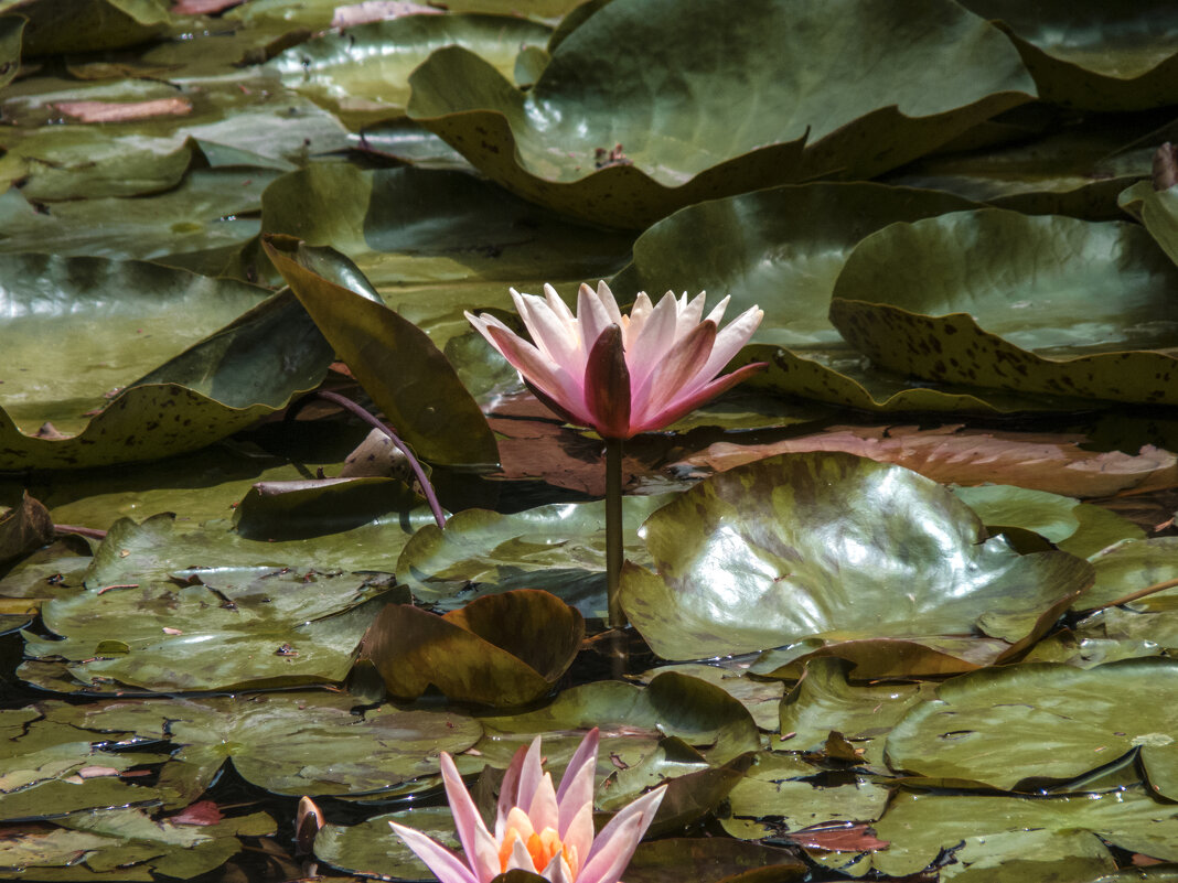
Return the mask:
M325 279L305 246L267 239L265 247L323 336L423 459L466 469L498 462L487 418L421 328Z

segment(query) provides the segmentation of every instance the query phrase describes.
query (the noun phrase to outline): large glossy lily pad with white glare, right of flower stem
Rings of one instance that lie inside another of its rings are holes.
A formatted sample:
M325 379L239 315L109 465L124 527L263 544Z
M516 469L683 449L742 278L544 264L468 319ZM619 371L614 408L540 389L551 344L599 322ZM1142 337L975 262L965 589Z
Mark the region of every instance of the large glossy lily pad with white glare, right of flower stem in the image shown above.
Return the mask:
M657 573L627 564L622 605L668 659L808 638L1017 643L1091 579L1073 556L981 542L978 517L935 482L842 453L719 473L643 529Z

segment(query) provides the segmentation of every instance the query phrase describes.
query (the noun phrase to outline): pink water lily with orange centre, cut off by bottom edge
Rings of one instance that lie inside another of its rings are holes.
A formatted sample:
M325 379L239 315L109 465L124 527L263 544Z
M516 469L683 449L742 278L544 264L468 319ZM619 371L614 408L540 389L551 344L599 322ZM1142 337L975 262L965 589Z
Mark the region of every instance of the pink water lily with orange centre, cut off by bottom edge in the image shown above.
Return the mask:
M525 870L552 883L617 883L646 834L667 786L642 795L594 837L593 783L597 730L585 736L569 762L560 789L544 772L540 737L521 748L499 790L495 834L487 830L450 755L442 755L450 811L463 856L421 831L390 822L392 829L441 883L489 883L499 874Z

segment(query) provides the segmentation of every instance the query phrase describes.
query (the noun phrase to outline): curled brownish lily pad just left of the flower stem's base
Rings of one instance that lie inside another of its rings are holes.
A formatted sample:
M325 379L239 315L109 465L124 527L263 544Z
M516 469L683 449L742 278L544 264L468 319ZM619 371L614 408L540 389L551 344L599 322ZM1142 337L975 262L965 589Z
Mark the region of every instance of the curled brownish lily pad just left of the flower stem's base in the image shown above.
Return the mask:
M434 684L450 699L510 708L551 691L583 638L584 619L574 608L521 589L441 617L390 604L365 636L364 657L395 696L417 698Z

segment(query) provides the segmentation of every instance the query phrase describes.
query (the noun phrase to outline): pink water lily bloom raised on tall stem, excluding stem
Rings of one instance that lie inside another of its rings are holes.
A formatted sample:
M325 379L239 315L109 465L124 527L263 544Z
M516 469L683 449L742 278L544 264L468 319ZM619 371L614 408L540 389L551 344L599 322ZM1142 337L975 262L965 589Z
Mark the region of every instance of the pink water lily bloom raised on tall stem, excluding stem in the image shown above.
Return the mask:
M488 313L466 318L536 398L603 438L662 429L765 367L756 363L716 377L765 316L749 307L720 330L728 298L706 319L702 292L691 300L667 292L657 305L640 292L629 316L605 283L596 292L581 286L576 316L551 285L543 298L515 288L511 298L531 343Z

